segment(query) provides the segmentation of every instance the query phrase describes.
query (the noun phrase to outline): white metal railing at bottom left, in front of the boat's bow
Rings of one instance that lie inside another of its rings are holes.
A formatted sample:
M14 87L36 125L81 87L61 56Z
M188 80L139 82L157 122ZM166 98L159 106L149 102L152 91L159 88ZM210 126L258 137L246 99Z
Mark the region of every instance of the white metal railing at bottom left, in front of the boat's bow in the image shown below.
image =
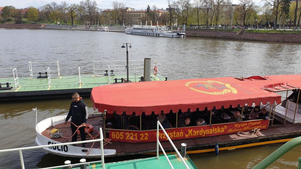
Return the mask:
M77 142L70 142L70 143L60 143L60 144L55 144L55 146L64 146L64 145L71 145L71 144L90 143L90 142L100 141L100 146L101 146L101 160L100 161L92 161L92 162L84 162L84 163L79 163L79 164L88 164L88 163L102 162L102 168L104 169L103 131L102 131L102 128L99 128L99 132L100 132L100 139L87 140L87 141L77 141ZM22 167L22 169L25 169L22 151L23 150L32 150L32 149L45 148L45 147L51 147L51 146L50 145L43 145L43 146L13 148L13 149L7 149L7 150L0 150L0 153L10 152L10 151L19 151L20 161L21 161L21 167ZM62 165L62 166L53 166L53 167L46 167L46 168L41 168L41 169L50 169L50 168L58 168L58 167L73 166L73 165L78 165L78 164L68 164L68 165Z

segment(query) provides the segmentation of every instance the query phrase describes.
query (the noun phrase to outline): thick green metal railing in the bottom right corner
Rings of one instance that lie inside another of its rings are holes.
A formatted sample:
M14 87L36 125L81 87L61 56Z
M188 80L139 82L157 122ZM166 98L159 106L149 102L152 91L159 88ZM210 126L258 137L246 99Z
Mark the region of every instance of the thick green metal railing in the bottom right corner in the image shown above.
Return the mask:
M253 169L264 169L267 168L269 165L271 165L274 161L276 161L278 158L283 156L285 153L293 149L294 147L301 144L301 137L294 138L287 143L285 143L283 146L278 148L276 151L274 151L272 154L267 156L265 159L263 159L261 162L259 162L256 166L253 167ZM301 163L300 158L298 169L301 169Z

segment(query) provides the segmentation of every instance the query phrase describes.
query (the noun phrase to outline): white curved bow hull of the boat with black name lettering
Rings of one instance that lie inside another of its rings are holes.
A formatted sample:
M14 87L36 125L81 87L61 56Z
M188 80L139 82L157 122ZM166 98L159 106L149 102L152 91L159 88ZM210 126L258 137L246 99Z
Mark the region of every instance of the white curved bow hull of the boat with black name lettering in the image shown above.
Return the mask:
M50 139L43 136L41 133L47 128L64 123L67 115L60 115L51 117L45 120L40 121L36 127L37 137L35 139L37 145L55 145L61 142L55 141L55 139ZM45 151L60 155L60 156L70 156L70 157L79 157L79 158L98 158L101 156L101 149L92 148L90 153L87 155L85 151L89 151L90 148L82 148L77 146L65 145L65 146L50 146L43 148ZM84 150L84 152L82 151ZM104 149L104 156L116 154L114 149Z

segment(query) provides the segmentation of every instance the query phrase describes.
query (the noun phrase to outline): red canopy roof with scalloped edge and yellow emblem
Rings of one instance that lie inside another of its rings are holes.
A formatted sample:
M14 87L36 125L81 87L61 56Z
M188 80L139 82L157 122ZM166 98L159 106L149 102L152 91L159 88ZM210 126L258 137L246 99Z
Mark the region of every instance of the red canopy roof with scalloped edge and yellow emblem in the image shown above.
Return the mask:
M237 105L259 105L267 102L281 102L277 93L261 89L270 84L289 84L300 87L301 75L265 76L262 80L239 80L233 77L183 79L171 81L133 82L115 85L94 87L91 100L94 110L107 110L108 113L116 111L127 115L135 112L141 115L145 112L150 115L174 113L179 109L186 112L188 109L195 111L237 107Z

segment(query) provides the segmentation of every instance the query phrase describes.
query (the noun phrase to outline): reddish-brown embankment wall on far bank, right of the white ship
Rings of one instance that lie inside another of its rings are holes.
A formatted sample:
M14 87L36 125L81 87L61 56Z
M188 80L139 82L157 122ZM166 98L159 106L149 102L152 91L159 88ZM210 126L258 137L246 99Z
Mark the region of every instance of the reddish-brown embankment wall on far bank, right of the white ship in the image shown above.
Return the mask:
M191 37L301 43L301 34L297 33L245 33L243 30L238 32L222 32L200 29L186 29L185 33L186 36Z

